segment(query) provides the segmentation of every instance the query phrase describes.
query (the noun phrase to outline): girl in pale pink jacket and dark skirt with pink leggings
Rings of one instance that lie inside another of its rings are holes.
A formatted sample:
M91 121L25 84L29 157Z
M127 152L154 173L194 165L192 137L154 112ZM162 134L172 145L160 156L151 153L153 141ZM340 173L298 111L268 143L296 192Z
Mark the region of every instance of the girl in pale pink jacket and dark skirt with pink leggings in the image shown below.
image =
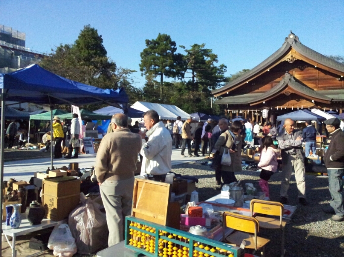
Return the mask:
M263 139L263 150L258 167L262 168L259 180L259 186L267 197L269 197L268 180L277 170L277 150L273 146L273 141L270 136L265 136Z

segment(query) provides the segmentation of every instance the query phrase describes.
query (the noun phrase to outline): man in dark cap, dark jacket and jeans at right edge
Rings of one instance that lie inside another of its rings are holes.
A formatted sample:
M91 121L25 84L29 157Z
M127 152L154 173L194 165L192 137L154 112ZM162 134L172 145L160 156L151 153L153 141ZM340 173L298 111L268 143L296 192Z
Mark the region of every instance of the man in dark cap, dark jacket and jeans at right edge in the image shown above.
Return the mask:
M333 221L344 220L344 191L342 178L344 176L344 132L340 128L341 121L331 118L324 121L329 132L327 143L329 147L324 160L329 178L329 191L331 193L330 206L324 212L335 214Z

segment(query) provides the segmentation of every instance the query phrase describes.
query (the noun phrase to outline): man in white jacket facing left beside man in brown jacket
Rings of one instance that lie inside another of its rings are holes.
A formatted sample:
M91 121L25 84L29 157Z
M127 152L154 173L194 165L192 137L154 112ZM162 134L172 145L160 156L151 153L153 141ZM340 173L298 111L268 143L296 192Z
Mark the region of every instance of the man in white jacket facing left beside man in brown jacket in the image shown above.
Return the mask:
M171 171L172 138L168 129L159 121L156 111L149 110L143 116L148 131L139 132L143 139L140 151L143 156L141 176L149 174L149 179L164 182L166 174Z

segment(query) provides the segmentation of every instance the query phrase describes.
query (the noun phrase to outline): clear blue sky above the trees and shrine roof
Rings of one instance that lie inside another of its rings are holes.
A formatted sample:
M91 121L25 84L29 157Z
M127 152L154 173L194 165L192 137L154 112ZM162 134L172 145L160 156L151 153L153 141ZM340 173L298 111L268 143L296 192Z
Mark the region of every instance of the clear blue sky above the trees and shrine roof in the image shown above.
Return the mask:
M145 39L167 33L177 46L205 43L230 75L261 63L290 30L315 51L344 56L343 11L344 0L0 0L0 24L40 52L73 43L90 24L118 66L138 71ZM140 72L134 80L145 82Z

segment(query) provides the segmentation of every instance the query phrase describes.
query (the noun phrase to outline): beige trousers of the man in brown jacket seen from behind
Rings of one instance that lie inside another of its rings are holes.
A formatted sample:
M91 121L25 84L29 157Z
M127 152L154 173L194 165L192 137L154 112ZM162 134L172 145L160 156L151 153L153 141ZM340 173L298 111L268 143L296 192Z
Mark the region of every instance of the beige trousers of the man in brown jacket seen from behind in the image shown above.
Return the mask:
M109 228L109 247L124 240L125 216L131 214L133 190L134 177L115 181L106 180L100 186Z

